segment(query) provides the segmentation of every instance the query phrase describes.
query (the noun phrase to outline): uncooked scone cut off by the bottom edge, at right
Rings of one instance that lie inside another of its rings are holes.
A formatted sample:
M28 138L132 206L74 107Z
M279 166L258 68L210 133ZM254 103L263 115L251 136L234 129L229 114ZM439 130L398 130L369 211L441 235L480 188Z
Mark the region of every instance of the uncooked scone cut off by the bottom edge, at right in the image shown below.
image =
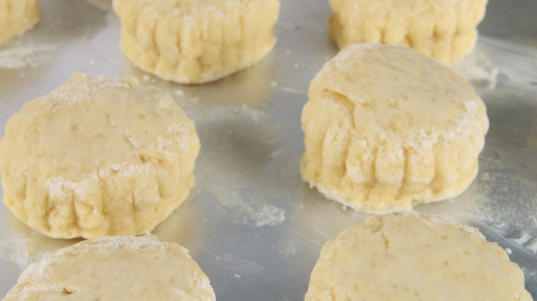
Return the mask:
M439 216L371 216L321 250L306 301L532 300L524 274L475 228Z

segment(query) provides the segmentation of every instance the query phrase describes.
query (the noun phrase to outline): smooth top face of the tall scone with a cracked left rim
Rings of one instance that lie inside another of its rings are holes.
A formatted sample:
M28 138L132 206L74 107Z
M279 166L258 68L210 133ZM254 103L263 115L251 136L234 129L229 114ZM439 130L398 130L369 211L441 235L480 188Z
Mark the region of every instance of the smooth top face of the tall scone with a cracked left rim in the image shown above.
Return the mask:
M310 85L310 96L323 92L352 103L354 131L364 138L434 144L488 129L485 105L463 78L404 47L342 49Z

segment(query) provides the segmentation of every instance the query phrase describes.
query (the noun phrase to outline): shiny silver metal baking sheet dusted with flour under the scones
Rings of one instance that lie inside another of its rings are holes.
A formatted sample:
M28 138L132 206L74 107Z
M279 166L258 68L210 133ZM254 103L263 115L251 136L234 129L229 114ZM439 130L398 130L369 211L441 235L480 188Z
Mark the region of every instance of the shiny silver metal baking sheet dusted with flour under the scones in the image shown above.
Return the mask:
M176 241L211 279L218 300L302 300L319 250L366 215L308 188L300 114L310 80L337 53L327 0L282 0L278 43L261 63L208 85L164 82L118 47L109 0L43 0L43 20L0 47L0 132L21 105L76 71L133 75L171 93L195 120L196 187L154 234ZM420 212L478 227L525 271L537 297L537 1L489 0L474 52L457 65L487 104L490 130L476 181ZM44 252L47 238L0 205L0 296Z

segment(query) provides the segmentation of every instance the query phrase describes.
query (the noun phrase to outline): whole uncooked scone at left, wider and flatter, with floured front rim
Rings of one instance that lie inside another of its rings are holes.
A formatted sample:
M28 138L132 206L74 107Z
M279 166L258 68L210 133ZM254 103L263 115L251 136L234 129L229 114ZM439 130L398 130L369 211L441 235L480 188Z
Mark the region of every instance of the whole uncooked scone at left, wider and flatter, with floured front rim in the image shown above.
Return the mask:
M143 234L185 201L199 149L166 93L76 74L6 124L4 202L56 238Z

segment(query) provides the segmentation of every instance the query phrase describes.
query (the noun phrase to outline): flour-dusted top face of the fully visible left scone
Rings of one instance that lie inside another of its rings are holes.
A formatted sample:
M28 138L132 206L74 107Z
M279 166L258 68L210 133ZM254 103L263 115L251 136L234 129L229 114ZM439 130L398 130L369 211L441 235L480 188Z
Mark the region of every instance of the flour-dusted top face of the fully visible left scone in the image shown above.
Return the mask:
M50 187L87 179L96 170L150 177L150 166L143 163L176 159L196 138L188 133L191 121L171 97L138 86L136 78L76 74L14 115L12 123L20 122L25 134L16 151L31 150L42 155L39 161L54 163L51 172L63 177L49 179ZM32 136L36 144L28 144Z

